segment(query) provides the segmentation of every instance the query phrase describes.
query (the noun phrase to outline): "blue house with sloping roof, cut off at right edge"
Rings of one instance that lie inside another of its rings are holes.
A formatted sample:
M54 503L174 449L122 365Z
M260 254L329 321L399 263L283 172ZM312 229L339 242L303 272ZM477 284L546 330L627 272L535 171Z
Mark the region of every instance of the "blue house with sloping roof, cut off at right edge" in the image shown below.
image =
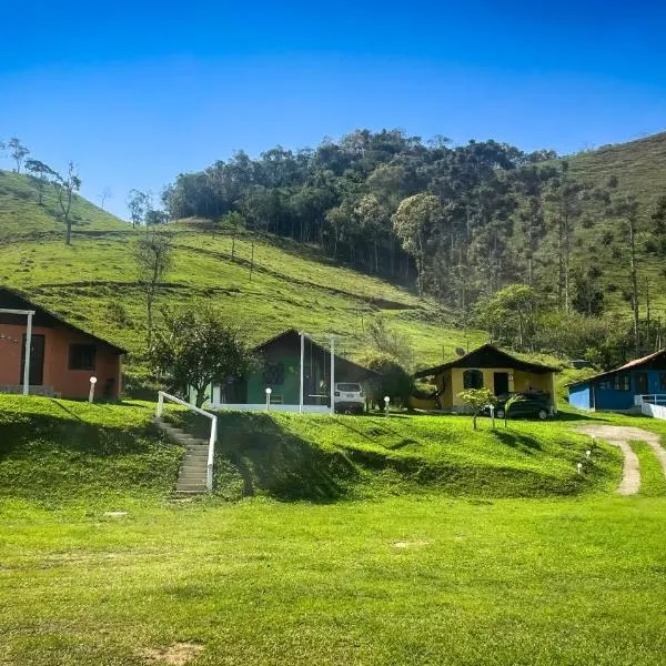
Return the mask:
M637 396L666 394L666 350L573 382L568 393L569 404L579 410L634 410Z

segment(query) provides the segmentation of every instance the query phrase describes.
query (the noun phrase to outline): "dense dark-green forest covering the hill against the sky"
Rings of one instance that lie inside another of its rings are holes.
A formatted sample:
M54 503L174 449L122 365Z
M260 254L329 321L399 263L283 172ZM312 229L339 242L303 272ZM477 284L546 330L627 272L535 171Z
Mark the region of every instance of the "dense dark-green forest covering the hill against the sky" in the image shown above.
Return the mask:
M518 350L608 366L663 344L654 294L664 282L666 184L646 192L635 167L603 164L594 153L562 159L493 140L453 147L359 130L254 160L239 151L179 175L163 202L171 219L316 243Z

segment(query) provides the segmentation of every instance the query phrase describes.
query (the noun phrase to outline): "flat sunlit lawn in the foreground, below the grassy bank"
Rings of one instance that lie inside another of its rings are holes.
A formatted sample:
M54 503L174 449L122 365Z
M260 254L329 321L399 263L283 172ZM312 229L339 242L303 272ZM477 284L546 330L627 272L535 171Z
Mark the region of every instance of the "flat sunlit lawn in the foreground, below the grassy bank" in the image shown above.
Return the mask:
M0 659L663 664L663 498L118 507L2 516Z

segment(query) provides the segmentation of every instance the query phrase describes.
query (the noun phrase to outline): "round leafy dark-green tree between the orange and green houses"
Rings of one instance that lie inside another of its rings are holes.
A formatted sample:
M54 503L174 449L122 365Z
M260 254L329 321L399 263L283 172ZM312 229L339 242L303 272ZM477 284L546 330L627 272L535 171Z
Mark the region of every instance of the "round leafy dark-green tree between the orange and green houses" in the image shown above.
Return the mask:
M170 389L184 395L192 386L198 407L209 397L208 386L245 376L252 367L254 359L246 333L222 320L211 307L162 313L163 325L155 330L149 362L167 377Z

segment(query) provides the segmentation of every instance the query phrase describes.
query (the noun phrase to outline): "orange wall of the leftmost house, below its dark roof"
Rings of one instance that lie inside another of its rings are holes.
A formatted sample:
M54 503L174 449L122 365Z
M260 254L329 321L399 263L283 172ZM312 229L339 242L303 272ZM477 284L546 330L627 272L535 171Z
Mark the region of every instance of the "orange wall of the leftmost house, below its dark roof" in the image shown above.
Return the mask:
M20 385L23 382L21 367L21 347L26 326L16 324L0 324L0 385ZM121 360L118 354L107 346L95 344L94 370L70 370L70 344L94 344L85 335L67 329L48 329L33 326L34 335L44 336L44 371L43 386L52 386L62 397L88 397L90 392L90 377L95 376L98 384L95 395L102 397L108 380L114 381L114 392L111 397L118 398L121 392ZM7 336L17 340L10 342Z

